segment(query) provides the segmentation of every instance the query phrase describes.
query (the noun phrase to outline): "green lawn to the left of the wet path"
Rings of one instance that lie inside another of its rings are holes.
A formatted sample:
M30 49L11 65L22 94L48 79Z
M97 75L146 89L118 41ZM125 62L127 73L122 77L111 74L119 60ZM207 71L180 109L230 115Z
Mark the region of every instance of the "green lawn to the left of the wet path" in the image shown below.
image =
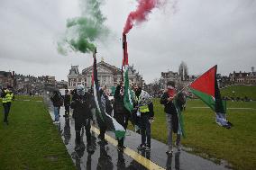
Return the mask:
M38 100L42 98L18 96L8 126L1 115L0 169L75 169L47 108Z

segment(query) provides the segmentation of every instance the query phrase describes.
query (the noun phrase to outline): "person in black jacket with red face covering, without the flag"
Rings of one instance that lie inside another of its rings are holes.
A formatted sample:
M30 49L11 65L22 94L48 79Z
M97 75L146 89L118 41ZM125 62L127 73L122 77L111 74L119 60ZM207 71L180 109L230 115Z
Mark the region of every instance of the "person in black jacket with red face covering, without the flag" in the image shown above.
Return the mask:
M176 96L175 83L170 81L167 83L167 89L160 98L160 103L164 104L164 112L166 112L166 121L168 129L168 146L169 149L166 152L168 155L172 155L172 132L177 133L176 146L180 151L180 134L178 134L178 112L173 103L174 97ZM178 102L180 108L182 103Z

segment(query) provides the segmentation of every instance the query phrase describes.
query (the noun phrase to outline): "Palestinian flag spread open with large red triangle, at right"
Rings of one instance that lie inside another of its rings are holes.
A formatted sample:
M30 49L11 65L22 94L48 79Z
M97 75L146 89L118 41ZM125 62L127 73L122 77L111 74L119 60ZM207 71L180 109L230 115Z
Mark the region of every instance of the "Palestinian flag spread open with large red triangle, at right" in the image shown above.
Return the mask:
M226 104L222 100L216 80L217 65L211 67L202 76L199 76L189 85L191 92L197 95L216 114L216 123L225 128L231 128L231 123L226 120Z

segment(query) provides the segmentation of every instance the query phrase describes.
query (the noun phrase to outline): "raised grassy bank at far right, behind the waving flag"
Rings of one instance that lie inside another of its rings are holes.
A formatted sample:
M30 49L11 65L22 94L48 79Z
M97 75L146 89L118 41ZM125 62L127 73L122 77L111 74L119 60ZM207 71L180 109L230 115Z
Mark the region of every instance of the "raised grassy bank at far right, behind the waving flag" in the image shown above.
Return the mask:
M245 96L249 97L253 101L256 101L256 85L233 85L226 87L221 90L223 96L228 97L240 97L244 98Z

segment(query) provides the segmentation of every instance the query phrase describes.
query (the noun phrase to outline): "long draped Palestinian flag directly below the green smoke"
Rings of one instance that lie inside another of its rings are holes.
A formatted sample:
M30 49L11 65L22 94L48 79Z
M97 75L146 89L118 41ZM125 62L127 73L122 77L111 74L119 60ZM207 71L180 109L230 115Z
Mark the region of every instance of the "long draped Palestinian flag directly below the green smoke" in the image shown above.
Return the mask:
M96 53L96 52L95 52ZM97 79L97 70L96 70L96 54L94 53L94 65L93 65L93 73L92 73L92 87L94 91L94 99L96 102L96 117L97 123L100 126L100 123L104 123L109 130L113 130L116 139L122 139L125 135L125 130L123 126L120 125L117 121L114 120L113 117L108 115L105 112L105 108L101 103L101 96L99 94L99 85Z

